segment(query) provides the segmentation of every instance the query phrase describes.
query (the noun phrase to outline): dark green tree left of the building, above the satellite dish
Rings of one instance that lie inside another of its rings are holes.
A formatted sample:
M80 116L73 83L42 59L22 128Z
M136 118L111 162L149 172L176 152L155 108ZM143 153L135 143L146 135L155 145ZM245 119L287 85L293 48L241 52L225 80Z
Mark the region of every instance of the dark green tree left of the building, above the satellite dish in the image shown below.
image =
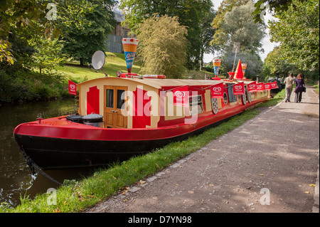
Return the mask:
M63 53L70 58L80 60L80 65L90 63L92 54L95 51L107 51L105 38L111 33L114 26L114 14L111 6L113 0L89 0L93 9L85 14L85 19L90 24L83 26L82 29L71 24L63 33Z

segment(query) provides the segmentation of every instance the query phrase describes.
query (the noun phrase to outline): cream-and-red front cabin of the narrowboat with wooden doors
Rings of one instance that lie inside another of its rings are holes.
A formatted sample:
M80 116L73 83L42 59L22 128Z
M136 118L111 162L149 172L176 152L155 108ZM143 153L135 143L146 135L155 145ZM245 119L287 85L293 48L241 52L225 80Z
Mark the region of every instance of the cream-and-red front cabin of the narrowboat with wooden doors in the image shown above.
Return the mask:
M102 115L105 128L165 127L192 118L195 113L212 114L208 87L218 83L223 81L98 78L78 85L79 114ZM190 107L174 105L172 89L183 85L188 85L191 94ZM220 107L221 99L218 99Z

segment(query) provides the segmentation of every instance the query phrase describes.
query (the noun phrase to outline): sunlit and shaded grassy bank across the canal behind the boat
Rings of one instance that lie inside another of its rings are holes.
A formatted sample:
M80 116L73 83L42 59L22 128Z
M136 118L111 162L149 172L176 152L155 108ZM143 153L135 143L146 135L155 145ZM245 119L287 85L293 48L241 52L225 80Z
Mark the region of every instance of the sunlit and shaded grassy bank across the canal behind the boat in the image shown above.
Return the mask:
M108 75L116 76L118 70L127 71L124 54L106 53L106 63L103 67ZM133 73L140 70L139 61L134 62ZM43 72L26 70L6 72L0 70L0 105L1 102L28 102L35 100L50 100L60 97L70 97L68 79L75 83L105 77L100 70L98 73L87 66L80 67L77 62L68 62L65 66L57 66L55 70Z

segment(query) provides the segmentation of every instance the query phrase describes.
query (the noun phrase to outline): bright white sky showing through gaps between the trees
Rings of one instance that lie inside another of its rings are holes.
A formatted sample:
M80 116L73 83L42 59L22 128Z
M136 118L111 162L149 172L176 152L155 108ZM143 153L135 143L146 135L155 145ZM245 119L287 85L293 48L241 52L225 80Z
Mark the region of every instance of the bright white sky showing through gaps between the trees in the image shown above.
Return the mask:
M211 0L211 1L213 2L213 6L214 6L213 8L215 10L218 10L218 7L220 6L220 4L223 0ZM268 14L268 12L267 12L267 14L265 16L265 21L268 21L269 19L272 19L272 16L270 14ZM270 42L270 36L269 36L268 29L267 29L266 33L267 33L267 36L265 36L265 38L263 38L263 40L262 40L262 48L264 48L265 53L260 53L260 57L261 57L262 61L264 61L265 58L267 58L268 53L270 53L273 50L274 46L277 46L276 43ZM205 54L203 62L209 63L211 60L213 60L213 58L215 58L215 56L213 54Z

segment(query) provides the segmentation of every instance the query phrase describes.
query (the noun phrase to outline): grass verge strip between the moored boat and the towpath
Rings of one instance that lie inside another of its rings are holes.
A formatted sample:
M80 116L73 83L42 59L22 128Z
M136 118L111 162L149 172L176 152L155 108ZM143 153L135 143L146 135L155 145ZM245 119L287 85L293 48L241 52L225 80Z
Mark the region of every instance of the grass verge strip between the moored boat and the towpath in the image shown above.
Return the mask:
M283 98L284 90L262 107L275 105ZM65 182L65 185L56 191L56 205L48 204L50 194L39 194L34 199L29 199L28 196L21 198L21 205L16 208L2 205L0 212L80 212L117 194L125 186L135 184L140 179L168 167L172 162L195 152L211 140L234 130L259 113L260 110L257 109L247 110L198 136L168 144L149 154L131 158L121 164L114 164L108 169L101 169L82 181Z

